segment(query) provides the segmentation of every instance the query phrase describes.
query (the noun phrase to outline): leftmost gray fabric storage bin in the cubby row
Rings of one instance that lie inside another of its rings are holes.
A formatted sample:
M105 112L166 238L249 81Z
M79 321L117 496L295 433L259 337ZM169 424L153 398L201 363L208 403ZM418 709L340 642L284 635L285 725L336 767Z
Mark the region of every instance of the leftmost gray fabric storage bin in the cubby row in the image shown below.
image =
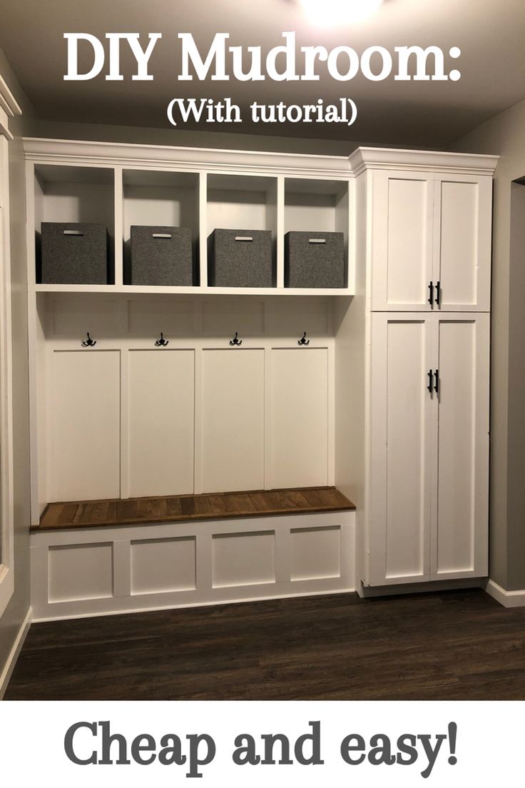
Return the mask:
M43 284L108 284L105 225L43 221Z

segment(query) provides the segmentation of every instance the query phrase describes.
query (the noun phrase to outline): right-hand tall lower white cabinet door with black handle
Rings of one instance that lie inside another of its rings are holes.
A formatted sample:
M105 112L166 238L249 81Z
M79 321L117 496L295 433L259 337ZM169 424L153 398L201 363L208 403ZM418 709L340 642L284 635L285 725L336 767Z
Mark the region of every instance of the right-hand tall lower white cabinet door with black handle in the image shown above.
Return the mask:
M431 578L487 573L489 315L438 321L438 495Z

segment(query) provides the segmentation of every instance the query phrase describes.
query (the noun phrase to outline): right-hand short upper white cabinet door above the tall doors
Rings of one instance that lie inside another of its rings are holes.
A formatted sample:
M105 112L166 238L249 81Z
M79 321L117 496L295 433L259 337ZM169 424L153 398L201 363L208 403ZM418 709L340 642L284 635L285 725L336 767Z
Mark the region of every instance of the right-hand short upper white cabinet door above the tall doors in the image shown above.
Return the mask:
M492 178L436 175L434 273L445 310L490 310Z

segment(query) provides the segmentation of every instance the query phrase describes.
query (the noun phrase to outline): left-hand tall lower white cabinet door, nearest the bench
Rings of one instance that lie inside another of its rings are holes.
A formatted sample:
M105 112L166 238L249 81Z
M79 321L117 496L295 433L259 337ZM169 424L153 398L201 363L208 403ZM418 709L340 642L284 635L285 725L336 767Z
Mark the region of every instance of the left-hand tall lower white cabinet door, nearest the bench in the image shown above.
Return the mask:
M433 316L373 315L370 585L430 578L436 350Z

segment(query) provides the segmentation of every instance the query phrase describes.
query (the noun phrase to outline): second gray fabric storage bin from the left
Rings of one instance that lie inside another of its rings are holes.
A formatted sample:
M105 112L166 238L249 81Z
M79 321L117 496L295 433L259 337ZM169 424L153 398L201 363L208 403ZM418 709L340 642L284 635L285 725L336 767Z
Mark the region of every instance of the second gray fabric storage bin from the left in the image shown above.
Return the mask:
M131 284L192 285L191 230L131 227Z

